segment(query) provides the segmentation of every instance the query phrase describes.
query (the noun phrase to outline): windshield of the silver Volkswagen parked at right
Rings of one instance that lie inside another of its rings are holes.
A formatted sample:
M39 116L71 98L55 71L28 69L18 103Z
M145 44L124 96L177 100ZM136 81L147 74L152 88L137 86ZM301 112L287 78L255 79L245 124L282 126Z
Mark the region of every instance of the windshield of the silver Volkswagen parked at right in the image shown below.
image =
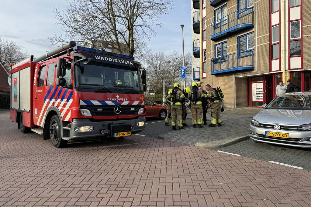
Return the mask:
M297 109L311 110L311 96L308 95L287 95L278 96L266 107L267 109Z

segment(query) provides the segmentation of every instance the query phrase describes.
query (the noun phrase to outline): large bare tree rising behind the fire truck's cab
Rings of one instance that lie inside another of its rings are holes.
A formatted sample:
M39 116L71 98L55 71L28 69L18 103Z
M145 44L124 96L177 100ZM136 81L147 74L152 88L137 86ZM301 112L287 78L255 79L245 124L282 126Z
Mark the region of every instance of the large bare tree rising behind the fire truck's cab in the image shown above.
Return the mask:
M120 54L140 56L154 25L172 9L170 0L75 0L65 10L54 8L56 24L65 35L49 37L52 44L75 40L85 44L111 43ZM138 54L139 53L139 54Z

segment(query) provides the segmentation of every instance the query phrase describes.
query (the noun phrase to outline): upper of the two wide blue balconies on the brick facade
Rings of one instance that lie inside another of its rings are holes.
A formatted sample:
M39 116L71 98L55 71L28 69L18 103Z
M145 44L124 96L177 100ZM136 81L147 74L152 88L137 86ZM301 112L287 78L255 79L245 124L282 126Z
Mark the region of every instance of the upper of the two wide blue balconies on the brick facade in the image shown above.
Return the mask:
M253 8L239 9L211 24L211 40L254 27Z

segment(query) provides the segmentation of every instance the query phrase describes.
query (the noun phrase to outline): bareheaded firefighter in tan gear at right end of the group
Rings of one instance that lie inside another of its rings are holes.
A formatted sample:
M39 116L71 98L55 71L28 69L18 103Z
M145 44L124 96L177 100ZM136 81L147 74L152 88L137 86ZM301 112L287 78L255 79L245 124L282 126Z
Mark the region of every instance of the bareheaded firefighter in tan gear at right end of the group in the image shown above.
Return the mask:
M221 126L221 100L217 97L216 91L211 87L211 85L207 84L205 88L207 90L206 97L210 100L211 103L211 124L209 124L208 126L215 127L217 123L218 126Z

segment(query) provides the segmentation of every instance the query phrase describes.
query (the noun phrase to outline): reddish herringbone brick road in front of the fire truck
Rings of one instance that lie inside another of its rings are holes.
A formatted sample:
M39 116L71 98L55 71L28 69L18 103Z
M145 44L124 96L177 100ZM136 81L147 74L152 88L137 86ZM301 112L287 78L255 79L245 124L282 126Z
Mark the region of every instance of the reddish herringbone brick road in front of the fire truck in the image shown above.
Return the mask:
M0 114L0 206L310 206L311 173L141 136L54 148Z

